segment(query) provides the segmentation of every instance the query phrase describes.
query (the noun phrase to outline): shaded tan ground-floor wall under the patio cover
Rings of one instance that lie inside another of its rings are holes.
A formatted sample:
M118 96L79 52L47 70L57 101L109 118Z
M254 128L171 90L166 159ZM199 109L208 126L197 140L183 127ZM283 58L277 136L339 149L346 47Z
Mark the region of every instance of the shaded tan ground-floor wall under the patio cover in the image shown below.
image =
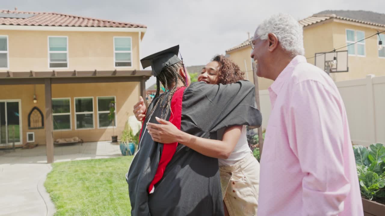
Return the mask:
M36 85L37 103L33 103L34 85L0 85L0 100L21 100L22 135L23 143L26 142L27 132L35 132L35 142L45 145L45 128L28 130L28 113L37 106L45 116L44 85ZM112 128L97 128L97 96L116 96L117 127L115 135L120 135L124 129L127 118L132 114L132 106L140 95L139 82L120 83L77 83L53 84L52 98L71 98L71 123L72 130L54 131L54 140L57 138L71 138L78 136L84 141L111 140ZM94 126L95 129L75 130L74 97L94 97Z

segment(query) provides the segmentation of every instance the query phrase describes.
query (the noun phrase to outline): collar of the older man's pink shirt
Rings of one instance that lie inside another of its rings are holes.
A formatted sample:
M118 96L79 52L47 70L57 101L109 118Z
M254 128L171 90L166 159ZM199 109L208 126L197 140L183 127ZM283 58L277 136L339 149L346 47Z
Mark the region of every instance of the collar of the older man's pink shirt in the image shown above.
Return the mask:
M297 55L295 56L289 64L281 71L280 75L275 79L273 84L268 88L269 91L273 91L276 95L280 92L283 84L288 80L288 76L293 73L293 70L295 66L297 66L299 63L307 62L305 56L303 55Z

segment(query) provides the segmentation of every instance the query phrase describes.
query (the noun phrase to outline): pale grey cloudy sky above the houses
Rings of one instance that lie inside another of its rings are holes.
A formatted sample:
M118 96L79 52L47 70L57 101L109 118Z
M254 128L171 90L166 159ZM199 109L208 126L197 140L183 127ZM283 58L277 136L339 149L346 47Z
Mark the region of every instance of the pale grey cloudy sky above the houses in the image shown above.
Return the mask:
M383 0L0 0L0 9L59 12L147 25L141 58L179 44L187 66L204 65L215 54L247 39L269 15L296 19L323 10L384 13ZM321 52L322 50L320 50ZM154 82L149 80L148 85Z

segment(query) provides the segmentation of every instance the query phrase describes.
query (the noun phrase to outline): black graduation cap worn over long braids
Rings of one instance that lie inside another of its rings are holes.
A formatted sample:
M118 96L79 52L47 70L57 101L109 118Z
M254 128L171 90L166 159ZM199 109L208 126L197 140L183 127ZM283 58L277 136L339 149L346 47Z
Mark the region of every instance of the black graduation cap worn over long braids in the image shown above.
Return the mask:
M174 65L175 63L181 61L178 58L178 52L179 45L176 45L175 47L171 47L166 50L162 50L161 52L157 52L147 57L144 57L141 59L142 67L144 69L148 66L151 66L152 75L157 76L159 75L159 73L161 73L163 68L166 68L170 65Z

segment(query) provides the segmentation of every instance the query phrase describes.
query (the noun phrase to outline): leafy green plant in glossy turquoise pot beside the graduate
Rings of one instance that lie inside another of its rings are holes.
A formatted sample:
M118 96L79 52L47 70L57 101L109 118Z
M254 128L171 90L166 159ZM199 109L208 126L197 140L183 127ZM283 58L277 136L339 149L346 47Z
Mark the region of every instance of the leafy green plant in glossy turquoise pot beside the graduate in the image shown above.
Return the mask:
M126 123L119 143L122 155L134 155L139 141L139 132L134 135L130 125Z

